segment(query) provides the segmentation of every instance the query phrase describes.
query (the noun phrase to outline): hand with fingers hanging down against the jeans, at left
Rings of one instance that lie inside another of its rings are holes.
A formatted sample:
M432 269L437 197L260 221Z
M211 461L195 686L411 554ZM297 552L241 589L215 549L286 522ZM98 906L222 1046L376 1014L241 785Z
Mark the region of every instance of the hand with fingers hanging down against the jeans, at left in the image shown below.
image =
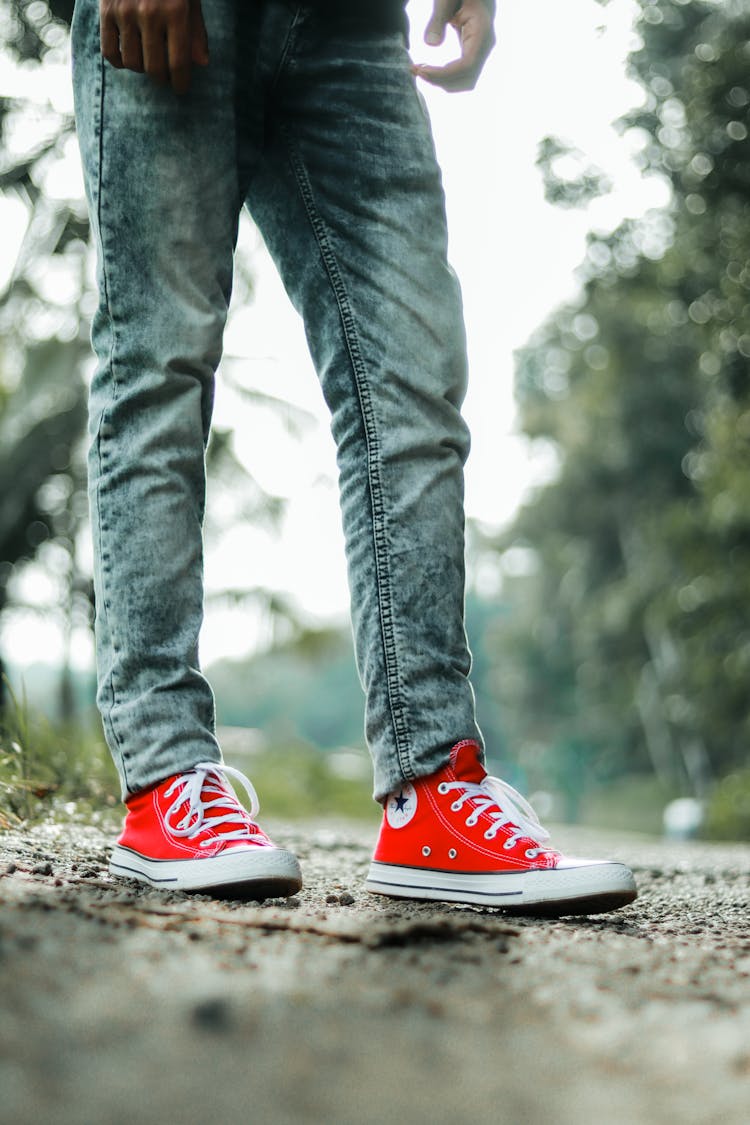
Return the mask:
M190 69L208 64L200 0L99 0L101 53L117 70L146 73L177 93Z

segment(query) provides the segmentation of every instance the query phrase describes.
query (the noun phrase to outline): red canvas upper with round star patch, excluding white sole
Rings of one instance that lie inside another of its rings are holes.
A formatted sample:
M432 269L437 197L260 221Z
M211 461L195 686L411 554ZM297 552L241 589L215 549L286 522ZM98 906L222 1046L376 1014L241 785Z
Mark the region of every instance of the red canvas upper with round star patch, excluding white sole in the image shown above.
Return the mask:
M554 867L557 852L519 793L489 777L477 742L457 742L450 763L405 782L385 806L373 860L457 872Z

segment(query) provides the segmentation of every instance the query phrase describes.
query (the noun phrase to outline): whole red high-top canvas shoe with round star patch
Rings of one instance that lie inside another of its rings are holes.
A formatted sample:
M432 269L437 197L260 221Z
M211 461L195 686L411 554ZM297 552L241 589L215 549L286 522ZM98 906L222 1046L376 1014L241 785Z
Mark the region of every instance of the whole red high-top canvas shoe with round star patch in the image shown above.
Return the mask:
M510 785L490 777L473 741L386 802L365 886L376 894L475 902L517 914L598 914L638 891L622 863L571 860Z

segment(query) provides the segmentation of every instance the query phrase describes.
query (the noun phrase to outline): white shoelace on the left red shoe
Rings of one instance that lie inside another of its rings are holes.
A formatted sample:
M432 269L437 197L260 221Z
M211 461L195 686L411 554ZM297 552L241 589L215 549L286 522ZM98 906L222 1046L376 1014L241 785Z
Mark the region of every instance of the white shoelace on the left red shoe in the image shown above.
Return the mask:
M222 775L234 777L243 786L250 798L250 811L240 803L232 790L224 784ZM211 776L213 775L213 776ZM257 793L249 777L233 766L225 766L219 762L199 762L197 766L187 773L175 777L170 788L164 793L165 798L177 792L177 798L166 810L164 824L173 836L187 836L192 839L207 829L218 828L219 825L237 825L233 831L222 832L222 840L255 840L264 839L259 832L253 831L256 825L253 824L257 816L260 803ZM216 795L216 800L207 801L204 793ZM170 818L174 817L180 809L187 804L184 816L177 822L170 824ZM220 816L208 816L208 810L220 806L224 810ZM235 808L227 812L227 806ZM200 847L207 847L215 843L216 837L201 840Z

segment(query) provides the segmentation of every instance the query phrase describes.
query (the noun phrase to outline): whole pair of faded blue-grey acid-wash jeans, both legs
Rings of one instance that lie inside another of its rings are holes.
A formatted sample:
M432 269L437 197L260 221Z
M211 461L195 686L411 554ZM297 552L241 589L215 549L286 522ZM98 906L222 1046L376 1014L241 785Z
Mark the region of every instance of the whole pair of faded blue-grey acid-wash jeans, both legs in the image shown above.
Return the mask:
M97 701L123 795L220 760L198 659L205 447L245 205L331 411L382 800L480 738L463 627L461 298L404 36L286 0L205 0L210 63L180 97L102 61L98 8L75 6L73 78L100 295Z

